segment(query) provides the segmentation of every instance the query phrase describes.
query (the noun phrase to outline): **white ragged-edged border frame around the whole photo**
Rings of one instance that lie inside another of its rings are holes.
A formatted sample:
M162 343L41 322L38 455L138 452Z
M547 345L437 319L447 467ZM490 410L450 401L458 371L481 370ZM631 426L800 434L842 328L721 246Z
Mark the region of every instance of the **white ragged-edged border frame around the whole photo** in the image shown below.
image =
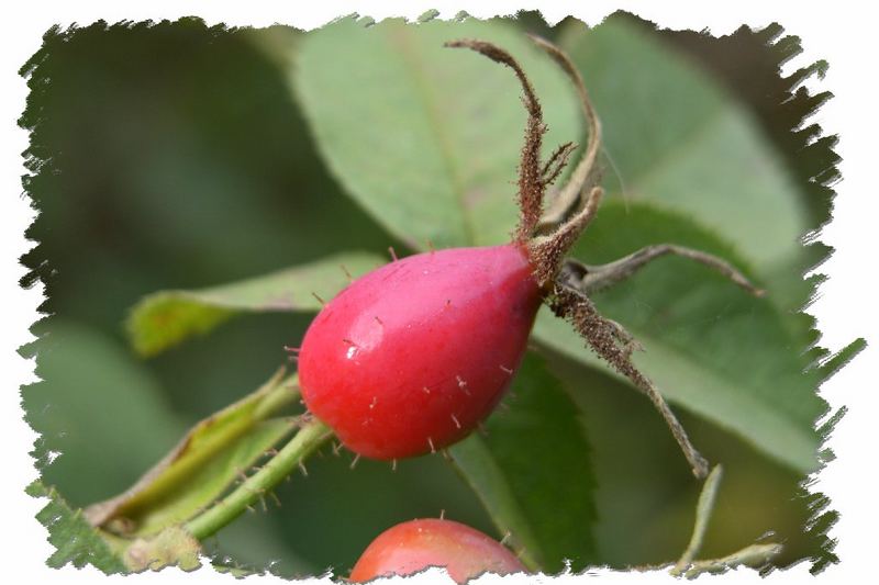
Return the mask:
M0 198L0 271L2 271L2 345L0 346L0 372L3 374L4 391L0 403L2 417L2 465L3 481L0 482L0 503L2 503L2 535L5 552L3 577L15 583L177 583L214 584L235 583L229 575L219 575L210 569L192 574L178 570L166 570L159 574L107 577L93 567L77 571L67 567L62 571L48 569L44 563L53 548L46 542L46 531L34 520L34 515L45 502L26 496L22 488L37 474L33 460L27 454L36 434L24 423L21 409L19 386L36 380L32 361L21 359L16 348L32 340L29 327L37 318L36 308L42 302L42 286L22 290L18 280L25 274L19 257L29 250L33 243L25 241L24 229L34 218L34 212L23 194L21 176L25 173L21 153L27 147L27 133L18 128L15 121L24 110L27 88L18 69L30 58L42 43L42 35L54 24L67 26L71 23L88 24L103 19L108 22L121 20L176 20L185 15L198 15L208 24L220 22L230 25L267 26L276 22L312 29L334 18L352 12L370 15L376 20L386 16L407 16L415 19L429 9L439 10L439 18L448 19L459 10L467 10L478 18L498 14L512 14L520 9L539 9L544 18L555 23L572 14L588 23L597 24L607 14L627 10L644 19L670 29L709 29L712 34L728 34L742 24L760 27L770 22L779 22L786 34L801 37L804 52L786 65L785 74L810 65L823 58L830 69L823 80L812 78L806 87L812 93L830 90L834 98L813 116L824 134L836 134L839 143L835 147L842 157L838 168L843 180L835 187L838 198L834 202L833 222L827 225L820 239L836 248L833 257L819 271L830 275L827 282L819 288L815 302L808 312L817 318L823 333L821 345L837 351L857 337L865 337L868 347L849 365L822 386L823 397L833 410L845 405L848 414L837 425L828 446L837 459L821 473L812 491L830 496L832 508L839 511L839 521L831 529L830 536L838 539L835 549L841 563L831 565L817 577L808 573L808 563L801 563L788 571L777 571L769 577L772 583L848 583L859 582L861 575L876 572L872 555L877 531L876 496L872 485L866 477L866 470L875 466L876 453L872 448L877 441L879 425L871 420L876 414L877 383L870 378L876 373L879 362L877 342L877 311L872 296L876 290L868 286L869 272L877 263L868 252L877 246L868 239L872 223L876 222L876 199L874 157L877 156L879 124L876 119L876 93L868 87L874 66L871 55L876 36L875 20L869 18L869 3L836 2L812 5L799 3L770 3L766 0L738 0L736 2L675 1L593 1L593 2L513 2L488 0L478 2L422 1L381 2L364 0L360 2L323 0L308 2L305 8L251 0L248 2L197 2L154 0L149 3L131 5L109 0L80 0L78 2L31 2L15 4L11 13L5 5L3 22L3 50L0 52L0 111L3 115L2 150L0 151L0 180L3 196ZM871 108L872 106L872 108ZM874 228L875 229L875 228ZM872 365L872 368L870 368ZM589 574L613 583L671 583L671 577L661 573L633 574L596 571ZM588 576L559 577L559 582L580 583ZM712 578L712 577L703 577ZM736 571L720 578L722 583L763 583L753 571ZM316 582L319 580L311 580ZM330 583L327 578L320 580ZM397 582L397 580L393 580ZM450 583L438 573L427 573L415 580L419 583ZM487 577L480 583L493 582ZM504 583L544 582L541 577L509 577ZM278 577L248 577L248 582L283 583Z

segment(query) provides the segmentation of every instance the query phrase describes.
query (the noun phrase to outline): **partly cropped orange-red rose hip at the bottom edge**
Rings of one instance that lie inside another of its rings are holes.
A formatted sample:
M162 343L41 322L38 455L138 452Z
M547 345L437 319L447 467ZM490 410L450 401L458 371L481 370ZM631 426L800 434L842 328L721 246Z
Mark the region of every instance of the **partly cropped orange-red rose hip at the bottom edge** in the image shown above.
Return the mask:
M379 535L354 565L351 581L411 575L429 566L444 566L456 583L482 573L509 575L525 566L497 540L453 520L410 520Z

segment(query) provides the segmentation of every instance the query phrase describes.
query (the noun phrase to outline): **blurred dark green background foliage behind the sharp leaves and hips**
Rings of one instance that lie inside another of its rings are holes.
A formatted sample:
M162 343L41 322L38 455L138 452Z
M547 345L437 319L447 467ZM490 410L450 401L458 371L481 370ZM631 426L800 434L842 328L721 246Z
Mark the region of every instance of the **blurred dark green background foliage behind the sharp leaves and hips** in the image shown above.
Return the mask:
M792 132L827 95L799 87L812 70L779 76L779 65L798 52L795 38L770 26L716 40L615 18L669 47L683 67L712 76L780 153L808 224L827 221L833 140L815 140L814 126ZM571 23L548 27L523 13L512 25L557 38ZM35 455L44 481L74 506L121 492L188 426L256 389L310 320L256 314L144 360L123 328L142 296L255 277L333 251L407 249L343 192L319 156L286 72L299 38L280 26L229 31L197 19L97 23L51 31L24 69L32 94L22 124L33 128L34 171L25 187L41 213L27 234L38 246L23 259L32 269L23 284L45 283L48 316L34 326L40 340L25 349L38 352L44 381L25 387L23 400L43 434ZM791 275L826 251L811 247ZM795 291L790 299L808 299L806 284L788 285ZM699 485L661 419L615 379L561 355L547 360L564 383L587 389L576 396L598 482L590 561L622 567L675 559L689 538ZM705 556L772 530L786 544L781 566L833 558L823 536L832 515L810 522L820 496L800 486L801 474L703 418L681 417L696 445L726 468ZM308 477L278 491L282 507L242 518L209 549L237 563L274 562L272 571L288 576L329 567L346 574L378 532L413 517L445 510L496 533L441 457L400 462L396 472L348 463L313 459Z

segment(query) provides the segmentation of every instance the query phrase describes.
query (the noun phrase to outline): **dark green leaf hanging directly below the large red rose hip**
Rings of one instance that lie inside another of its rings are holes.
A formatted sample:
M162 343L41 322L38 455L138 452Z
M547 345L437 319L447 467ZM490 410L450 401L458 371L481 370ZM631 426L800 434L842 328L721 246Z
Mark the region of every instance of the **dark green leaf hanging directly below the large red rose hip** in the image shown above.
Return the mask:
M528 355L508 398L487 421L449 448L501 533L531 569L575 571L594 560L594 480L577 408L543 360Z

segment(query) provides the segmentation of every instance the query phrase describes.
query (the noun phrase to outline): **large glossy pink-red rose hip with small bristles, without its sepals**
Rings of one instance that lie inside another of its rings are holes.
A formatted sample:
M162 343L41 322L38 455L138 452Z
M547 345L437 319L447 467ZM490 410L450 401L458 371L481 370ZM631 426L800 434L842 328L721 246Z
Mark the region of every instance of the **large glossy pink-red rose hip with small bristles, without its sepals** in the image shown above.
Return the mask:
M314 318L299 356L302 397L364 457L441 449L503 396L539 303L516 245L393 261L353 282Z

